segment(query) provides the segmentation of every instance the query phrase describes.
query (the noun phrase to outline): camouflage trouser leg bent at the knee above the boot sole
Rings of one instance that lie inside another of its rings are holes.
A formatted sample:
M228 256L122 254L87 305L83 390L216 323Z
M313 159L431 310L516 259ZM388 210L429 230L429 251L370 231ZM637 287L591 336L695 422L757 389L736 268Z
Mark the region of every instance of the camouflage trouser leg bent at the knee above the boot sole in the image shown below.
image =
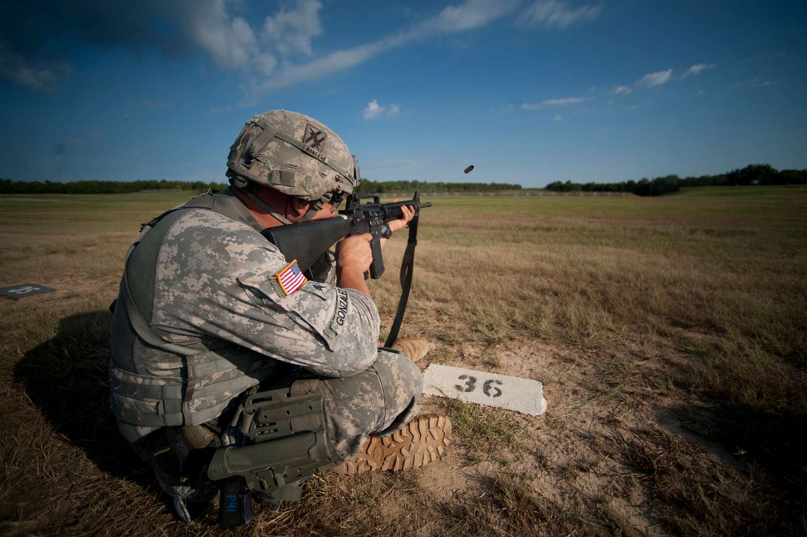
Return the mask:
M292 391L314 389L322 394L328 436L341 457L351 458L358 455L367 435L389 435L416 416L423 378L407 356L378 349L378 360L362 373L305 376L293 385Z

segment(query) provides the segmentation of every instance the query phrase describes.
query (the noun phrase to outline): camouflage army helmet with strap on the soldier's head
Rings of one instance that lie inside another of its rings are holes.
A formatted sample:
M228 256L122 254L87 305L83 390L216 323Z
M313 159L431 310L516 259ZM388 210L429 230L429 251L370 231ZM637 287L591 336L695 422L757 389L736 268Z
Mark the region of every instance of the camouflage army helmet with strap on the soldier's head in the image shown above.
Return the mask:
M358 161L345 142L324 124L289 110L257 114L230 148L227 176L314 202L318 208L353 192Z

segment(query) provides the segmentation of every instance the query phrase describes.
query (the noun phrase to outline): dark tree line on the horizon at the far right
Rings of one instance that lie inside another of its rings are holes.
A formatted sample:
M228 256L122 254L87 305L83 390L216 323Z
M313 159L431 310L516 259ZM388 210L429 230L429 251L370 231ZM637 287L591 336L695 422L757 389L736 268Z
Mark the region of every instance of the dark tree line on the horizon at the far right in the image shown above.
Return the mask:
M783 169L779 171L772 167L771 164L749 164L743 169L733 169L730 172L717 175L678 177L673 173L664 177L656 177L653 181L644 177L639 181L622 181L619 183L554 181L554 183L546 185L546 189L556 192L630 192L639 196L660 196L692 186L805 184L807 184L807 169Z

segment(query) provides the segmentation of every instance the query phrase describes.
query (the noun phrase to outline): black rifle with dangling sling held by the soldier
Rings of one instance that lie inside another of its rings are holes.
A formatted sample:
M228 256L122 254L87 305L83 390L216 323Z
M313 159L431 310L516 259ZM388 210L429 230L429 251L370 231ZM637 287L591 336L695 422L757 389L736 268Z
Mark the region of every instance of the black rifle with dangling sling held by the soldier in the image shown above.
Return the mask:
M362 200L372 198L372 202L362 203ZM409 288L412 285L412 265L415 259L415 246L417 244L417 221L420 209L432 206L431 203L421 203L420 196L415 194L412 199L405 202L381 203L378 196L373 194L350 194L344 210L338 216L330 219L310 220L299 224L287 226L267 227L261 235L278 247L286 261L297 260L297 266L302 271L310 269L312 264L328 251L338 240L351 235L370 233L370 249L373 252L373 262L370 264L370 277L377 280L384 273L384 260L381 256L381 238L387 234L387 223L403 216L401 206L412 206L415 215L409 222L409 241L401 263L401 298L395 321L392 323L386 347L391 347L398 337L403 312L409 298Z

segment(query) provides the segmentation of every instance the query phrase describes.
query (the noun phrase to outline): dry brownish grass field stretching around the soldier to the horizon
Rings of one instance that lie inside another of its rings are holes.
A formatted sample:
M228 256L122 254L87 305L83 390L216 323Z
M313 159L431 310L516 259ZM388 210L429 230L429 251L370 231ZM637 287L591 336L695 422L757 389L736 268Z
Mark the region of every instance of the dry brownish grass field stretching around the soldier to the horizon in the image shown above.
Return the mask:
M57 289L0 298L3 534L220 535L214 508L174 518L107 406L124 252L184 198L0 197L0 286ZM807 534L807 188L430 201L403 335L542 381L549 410L424 397L445 458L317 474L230 535ZM371 285L382 331L404 243Z

